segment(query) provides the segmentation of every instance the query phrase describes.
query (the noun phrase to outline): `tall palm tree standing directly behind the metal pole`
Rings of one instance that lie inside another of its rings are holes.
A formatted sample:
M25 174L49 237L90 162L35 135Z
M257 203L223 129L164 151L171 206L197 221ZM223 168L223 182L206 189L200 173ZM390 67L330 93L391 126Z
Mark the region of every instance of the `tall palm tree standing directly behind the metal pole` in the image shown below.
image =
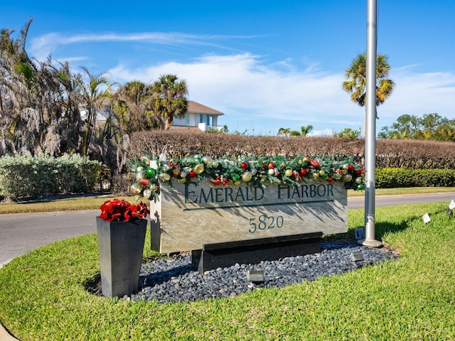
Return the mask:
M346 81L343 82L343 90L350 94L350 99L365 107L367 85L367 54L362 53L353 59L350 67L346 69ZM395 88L395 82L388 79L390 64L387 63L387 55L376 56L376 106L385 102ZM365 136L365 118L363 122L363 136Z

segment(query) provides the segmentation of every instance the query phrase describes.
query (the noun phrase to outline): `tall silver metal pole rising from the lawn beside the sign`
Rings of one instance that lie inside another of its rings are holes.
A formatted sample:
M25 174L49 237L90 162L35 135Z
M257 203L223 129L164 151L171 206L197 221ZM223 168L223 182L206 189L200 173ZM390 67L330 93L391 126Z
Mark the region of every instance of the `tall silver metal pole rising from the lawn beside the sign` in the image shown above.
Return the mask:
M376 45L378 1L367 0L367 88L365 112L365 239L359 244L380 247L375 239L375 166L376 166Z

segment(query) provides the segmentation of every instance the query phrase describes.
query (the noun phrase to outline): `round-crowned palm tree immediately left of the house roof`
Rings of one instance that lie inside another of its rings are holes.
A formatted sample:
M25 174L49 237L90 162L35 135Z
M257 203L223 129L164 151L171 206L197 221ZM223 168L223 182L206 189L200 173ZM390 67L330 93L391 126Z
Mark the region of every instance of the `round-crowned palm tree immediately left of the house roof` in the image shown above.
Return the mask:
M164 120L164 129L169 129L174 117L183 119L188 111L188 88L185 80L178 80L176 75L161 75L151 86L154 114Z

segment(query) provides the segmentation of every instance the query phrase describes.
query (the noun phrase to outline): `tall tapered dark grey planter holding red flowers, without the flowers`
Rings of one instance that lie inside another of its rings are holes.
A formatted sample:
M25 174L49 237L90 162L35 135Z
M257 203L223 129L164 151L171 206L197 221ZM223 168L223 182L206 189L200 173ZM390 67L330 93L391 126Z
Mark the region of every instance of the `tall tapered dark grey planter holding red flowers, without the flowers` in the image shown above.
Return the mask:
M107 222L97 217L102 295L122 297L139 286L147 220Z

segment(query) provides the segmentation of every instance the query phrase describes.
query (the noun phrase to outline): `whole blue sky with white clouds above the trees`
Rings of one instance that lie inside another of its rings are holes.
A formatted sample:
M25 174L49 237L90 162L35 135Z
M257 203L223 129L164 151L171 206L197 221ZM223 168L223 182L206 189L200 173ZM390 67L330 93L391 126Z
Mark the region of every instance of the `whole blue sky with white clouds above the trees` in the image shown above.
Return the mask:
M26 50L83 65L112 82L186 80L189 99L224 112L232 131L280 127L331 135L363 129L365 109L341 90L366 50L367 0L6 1L0 28ZM455 119L455 1L378 0L378 53L395 92L378 107L377 131L402 114Z

